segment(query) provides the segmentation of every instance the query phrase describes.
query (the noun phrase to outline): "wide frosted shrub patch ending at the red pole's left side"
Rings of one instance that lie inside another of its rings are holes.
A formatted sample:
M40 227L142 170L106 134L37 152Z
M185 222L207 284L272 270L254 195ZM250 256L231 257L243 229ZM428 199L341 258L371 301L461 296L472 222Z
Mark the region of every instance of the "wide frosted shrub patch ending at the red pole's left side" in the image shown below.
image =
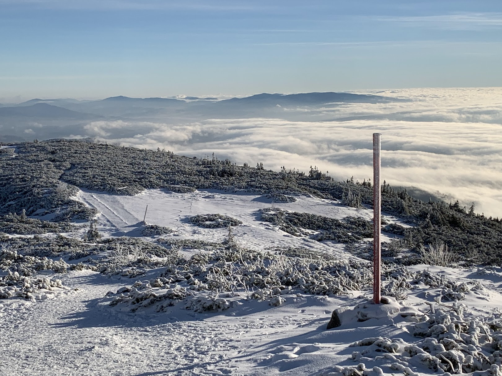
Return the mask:
M282 296L294 290L319 295L347 294L367 288L371 280L369 266L358 263L342 263L321 254L318 258L312 254L308 258L289 257L233 244L196 254L183 265L167 266L159 278L149 281L151 289L145 294L180 284L198 294L239 293L269 300L274 305L282 304Z

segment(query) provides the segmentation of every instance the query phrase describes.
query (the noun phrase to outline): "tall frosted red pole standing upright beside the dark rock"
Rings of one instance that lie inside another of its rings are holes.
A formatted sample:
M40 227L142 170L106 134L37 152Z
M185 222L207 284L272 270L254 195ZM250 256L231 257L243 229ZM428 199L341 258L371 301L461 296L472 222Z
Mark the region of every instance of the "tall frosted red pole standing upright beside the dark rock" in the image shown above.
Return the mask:
M380 191L380 133L373 133L373 303L380 304L380 212L382 207Z

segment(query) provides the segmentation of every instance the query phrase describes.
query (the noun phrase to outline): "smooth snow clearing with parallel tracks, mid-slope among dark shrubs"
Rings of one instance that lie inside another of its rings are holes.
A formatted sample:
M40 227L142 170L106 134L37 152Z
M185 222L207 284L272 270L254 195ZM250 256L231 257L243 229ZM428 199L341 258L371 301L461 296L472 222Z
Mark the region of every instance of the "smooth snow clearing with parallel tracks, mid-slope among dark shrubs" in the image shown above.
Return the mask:
M259 220L260 209L276 206L289 211L317 214L324 217L342 219L361 217L372 219L372 211L354 209L336 201L314 197L297 196L297 201L287 204L272 203L260 195L234 194L223 191L206 190L189 194L171 193L164 190L147 190L136 196L112 196L102 192L81 191L76 197L99 212L99 230L109 236L134 235L141 226L148 205L146 222L172 228L176 236L221 241L226 229L204 229L193 226L188 217L198 214L223 214L240 220L243 225L235 227L237 240L259 249L269 247L305 247L341 256L342 244L316 242L309 238L297 238L279 231L277 226ZM388 222L403 225L393 217L385 217ZM405 225L406 226L406 225ZM383 241L388 237L383 238Z

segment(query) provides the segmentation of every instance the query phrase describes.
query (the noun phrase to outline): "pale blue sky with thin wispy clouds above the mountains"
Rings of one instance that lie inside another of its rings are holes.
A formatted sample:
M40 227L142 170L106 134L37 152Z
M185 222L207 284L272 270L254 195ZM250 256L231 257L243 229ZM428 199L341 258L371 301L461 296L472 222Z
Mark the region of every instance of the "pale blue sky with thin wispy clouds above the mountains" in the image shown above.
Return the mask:
M0 0L0 98L502 86L502 2Z

